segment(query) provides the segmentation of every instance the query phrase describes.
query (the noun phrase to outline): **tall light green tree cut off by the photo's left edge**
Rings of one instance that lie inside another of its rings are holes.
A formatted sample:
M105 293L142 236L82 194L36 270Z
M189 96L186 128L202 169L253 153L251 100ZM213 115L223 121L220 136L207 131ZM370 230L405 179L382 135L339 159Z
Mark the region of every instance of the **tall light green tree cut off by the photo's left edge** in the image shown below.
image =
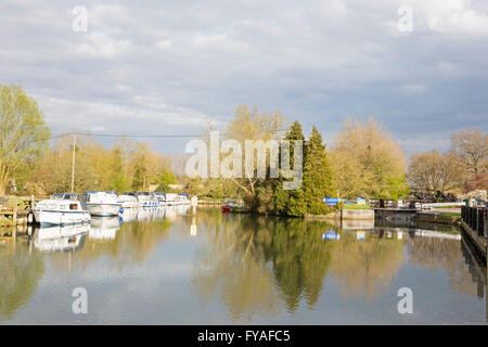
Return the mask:
M34 98L20 86L0 86L0 195L20 165L38 156L50 136Z

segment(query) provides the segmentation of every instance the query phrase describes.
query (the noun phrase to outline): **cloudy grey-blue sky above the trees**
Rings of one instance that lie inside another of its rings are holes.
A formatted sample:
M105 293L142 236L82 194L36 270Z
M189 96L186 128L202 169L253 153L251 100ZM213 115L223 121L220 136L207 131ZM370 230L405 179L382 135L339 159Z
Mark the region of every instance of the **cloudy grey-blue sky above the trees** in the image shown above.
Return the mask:
M4 0L0 83L35 97L54 134L192 134L241 104L328 141L348 115L374 117L408 154L488 130L488 1L298 3ZM77 5L87 31L73 29ZM188 139L151 141L175 153Z

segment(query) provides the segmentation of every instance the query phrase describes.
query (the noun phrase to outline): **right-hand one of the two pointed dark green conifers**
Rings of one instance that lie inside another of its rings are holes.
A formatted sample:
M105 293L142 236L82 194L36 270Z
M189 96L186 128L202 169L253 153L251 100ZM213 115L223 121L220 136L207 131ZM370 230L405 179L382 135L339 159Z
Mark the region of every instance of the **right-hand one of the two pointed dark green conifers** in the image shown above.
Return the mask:
M325 196L336 196L334 176L322 143L322 136L313 126L310 139L306 145L304 165L304 191L307 213L323 215L329 213L323 203Z

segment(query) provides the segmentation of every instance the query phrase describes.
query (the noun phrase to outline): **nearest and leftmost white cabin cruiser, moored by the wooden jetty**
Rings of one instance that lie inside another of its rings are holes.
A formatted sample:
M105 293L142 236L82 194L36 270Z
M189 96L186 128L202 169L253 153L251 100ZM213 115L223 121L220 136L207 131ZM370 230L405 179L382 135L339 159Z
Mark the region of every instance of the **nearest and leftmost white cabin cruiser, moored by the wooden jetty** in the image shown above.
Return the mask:
M34 208L36 221L42 226L87 223L90 214L85 200L76 193L59 193L42 200Z

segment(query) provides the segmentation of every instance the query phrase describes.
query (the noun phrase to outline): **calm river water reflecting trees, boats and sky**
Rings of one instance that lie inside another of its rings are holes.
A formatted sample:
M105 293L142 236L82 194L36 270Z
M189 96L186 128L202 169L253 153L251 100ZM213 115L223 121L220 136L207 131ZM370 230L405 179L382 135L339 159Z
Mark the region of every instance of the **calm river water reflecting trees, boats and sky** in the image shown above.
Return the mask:
M123 218L0 241L0 324L487 322L486 268L452 231L203 207ZM72 310L77 287L86 314Z

